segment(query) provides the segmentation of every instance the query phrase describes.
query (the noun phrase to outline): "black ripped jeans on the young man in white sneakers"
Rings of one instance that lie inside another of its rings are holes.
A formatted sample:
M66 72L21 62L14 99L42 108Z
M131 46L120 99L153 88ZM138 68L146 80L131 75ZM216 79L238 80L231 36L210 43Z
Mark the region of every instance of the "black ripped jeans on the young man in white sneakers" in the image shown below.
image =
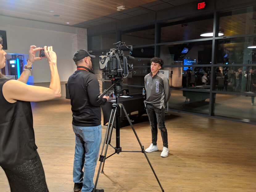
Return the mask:
M161 131L161 136L163 140L163 146L168 148L168 137L167 137L167 129L164 124L164 108L159 109L154 107L151 104L147 104L147 115L151 126L151 134L152 134L152 143L156 145L157 141L157 125Z

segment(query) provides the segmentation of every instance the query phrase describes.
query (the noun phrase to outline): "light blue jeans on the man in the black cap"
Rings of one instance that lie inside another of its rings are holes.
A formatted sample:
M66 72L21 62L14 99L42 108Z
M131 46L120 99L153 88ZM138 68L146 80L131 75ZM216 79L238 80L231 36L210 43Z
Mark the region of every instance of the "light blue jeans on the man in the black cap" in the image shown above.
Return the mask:
M101 125L94 127L72 126L76 135L73 181L74 183L83 183L81 192L91 192L94 187L93 176L101 145Z

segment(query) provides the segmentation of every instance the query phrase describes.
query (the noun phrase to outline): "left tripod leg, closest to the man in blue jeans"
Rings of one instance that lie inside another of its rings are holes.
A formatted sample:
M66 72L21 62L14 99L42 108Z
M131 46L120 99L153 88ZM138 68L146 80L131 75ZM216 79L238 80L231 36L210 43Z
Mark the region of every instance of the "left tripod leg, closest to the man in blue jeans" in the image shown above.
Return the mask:
M98 179L99 179L102 162L103 162L103 165L105 164L105 157L106 157L106 154L107 154L109 141L110 141L110 138L111 138L111 135L112 135L112 131L113 131L113 125L114 125L116 111L117 111L117 108L111 110L111 115L110 115L110 118L109 118L109 124L108 124L107 130L106 130L106 134L105 134L105 138L104 138L103 144L102 144L102 149L101 149L101 154L100 154L100 159L99 159L99 161L101 161L101 162L100 162L100 165L99 165L99 170L98 170L98 173L97 173L97 177L96 177L96 181L95 181L93 192L96 191L96 186L97 186L97 182L98 182ZM106 139L107 139L107 142L106 142ZM104 156L103 156L102 154L103 154L105 142L106 142L106 147L105 147L105 153L104 153ZM102 172L103 172L103 168L102 168Z

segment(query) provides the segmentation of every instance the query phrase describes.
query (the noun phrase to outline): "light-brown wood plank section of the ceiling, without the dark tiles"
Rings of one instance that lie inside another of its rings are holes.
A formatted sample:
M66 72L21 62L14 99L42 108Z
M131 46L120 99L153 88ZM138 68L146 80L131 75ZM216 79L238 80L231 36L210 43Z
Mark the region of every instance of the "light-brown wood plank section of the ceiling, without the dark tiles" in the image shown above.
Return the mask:
M43 22L74 25L118 12L117 6L126 9L156 0L1 0L0 15ZM49 10L54 10L50 13ZM54 17L53 15L60 15Z

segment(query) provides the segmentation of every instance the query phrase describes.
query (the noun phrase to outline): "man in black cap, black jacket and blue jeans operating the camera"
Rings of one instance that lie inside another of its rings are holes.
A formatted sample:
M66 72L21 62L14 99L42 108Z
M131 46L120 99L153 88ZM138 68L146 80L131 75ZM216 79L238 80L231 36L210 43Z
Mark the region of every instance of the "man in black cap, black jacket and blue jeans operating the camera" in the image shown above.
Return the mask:
M73 165L75 192L93 191L93 176L101 144L100 106L105 105L109 99L109 96L97 98L100 95L99 82L92 72L91 58L95 56L83 49L76 51L73 60L77 70L68 79L72 127L76 136ZM103 189L96 191L104 192Z

